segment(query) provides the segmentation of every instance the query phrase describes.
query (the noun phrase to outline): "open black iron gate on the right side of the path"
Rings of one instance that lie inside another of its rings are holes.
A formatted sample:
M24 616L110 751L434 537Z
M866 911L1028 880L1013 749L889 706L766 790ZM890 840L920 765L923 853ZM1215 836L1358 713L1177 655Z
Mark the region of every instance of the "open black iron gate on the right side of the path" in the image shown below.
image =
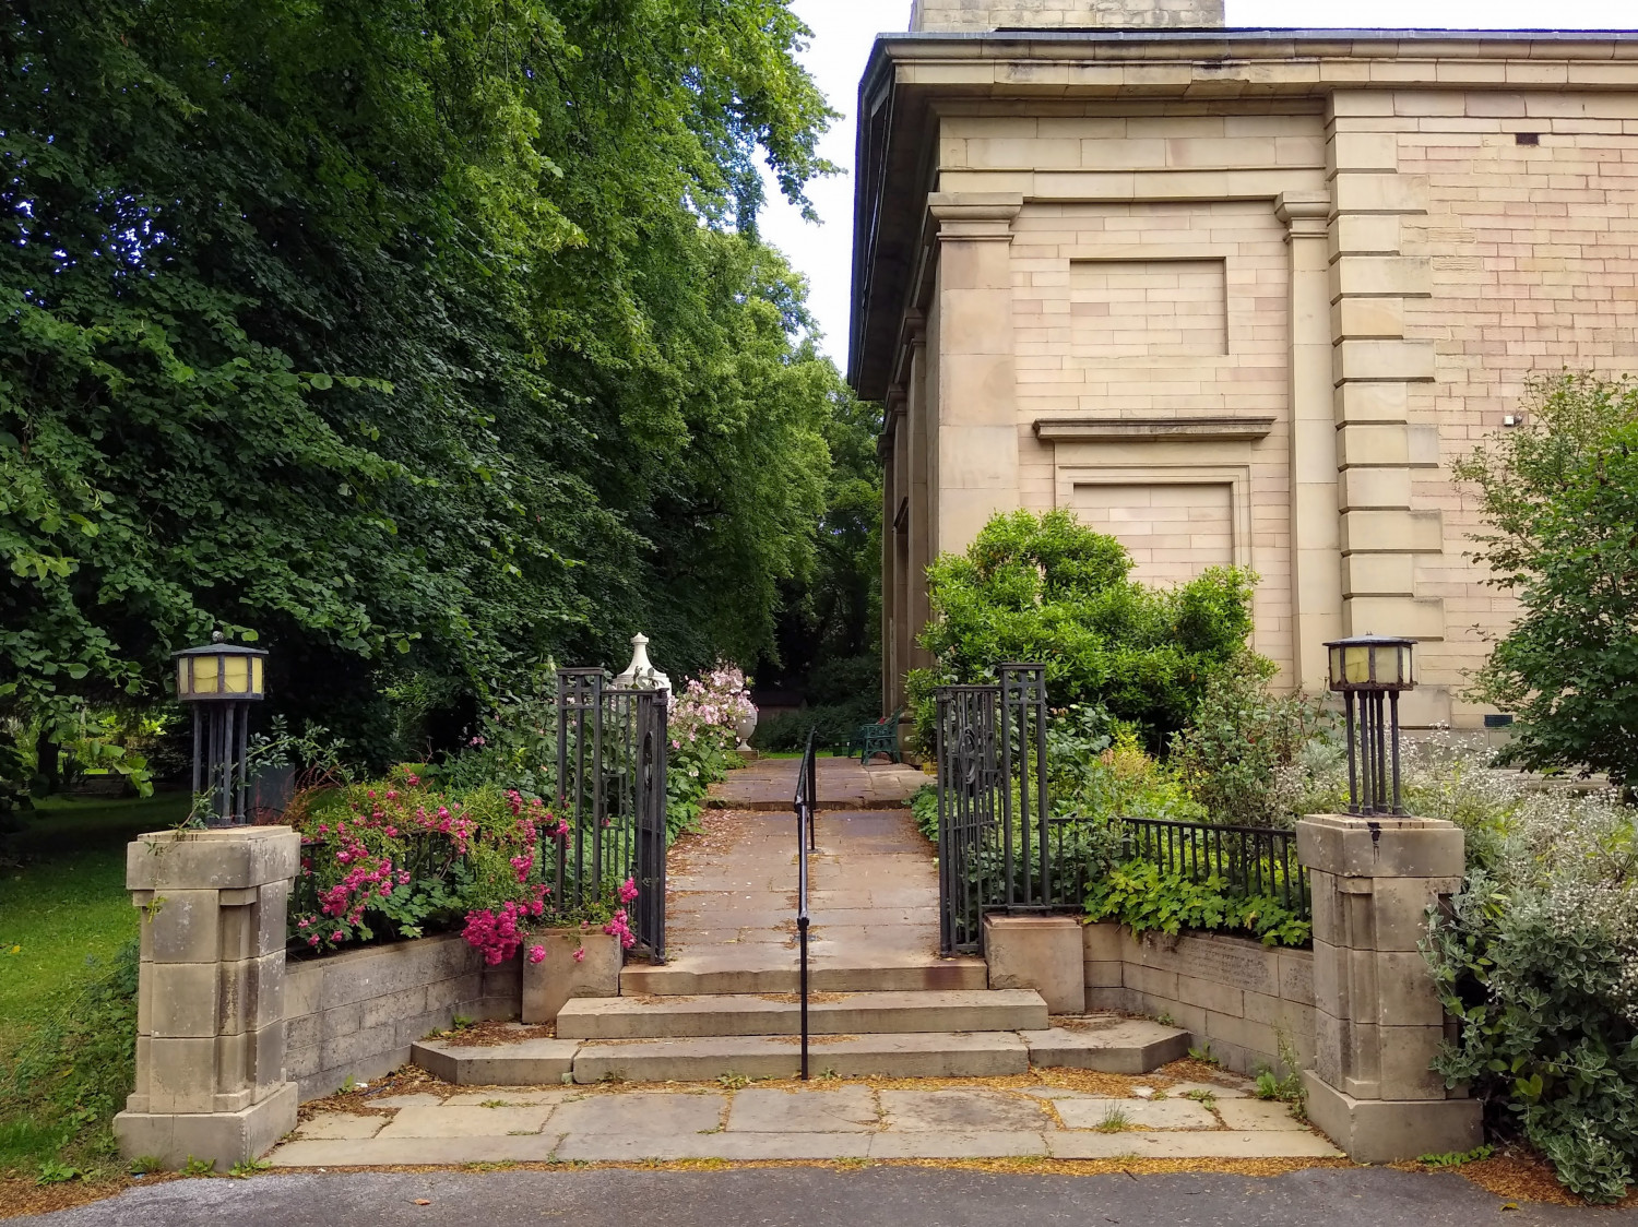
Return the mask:
M994 686L939 686L939 944L983 949L984 912L1076 909L1070 819L1047 799L1047 667L1004 663ZM1066 862L1061 863L1060 862Z

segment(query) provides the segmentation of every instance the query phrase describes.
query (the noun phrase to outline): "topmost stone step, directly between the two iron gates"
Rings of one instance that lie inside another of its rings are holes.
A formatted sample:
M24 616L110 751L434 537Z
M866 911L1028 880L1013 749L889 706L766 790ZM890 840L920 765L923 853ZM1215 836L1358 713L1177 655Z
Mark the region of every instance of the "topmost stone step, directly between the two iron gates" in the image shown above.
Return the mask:
M731 996L742 993L796 993L801 978L783 947L770 952L763 967L713 965L708 957L680 958L662 967L629 963L619 976L622 996ZM817 965L808 971L811 993L980 993L989 986L983 958L934 958L873 965Z

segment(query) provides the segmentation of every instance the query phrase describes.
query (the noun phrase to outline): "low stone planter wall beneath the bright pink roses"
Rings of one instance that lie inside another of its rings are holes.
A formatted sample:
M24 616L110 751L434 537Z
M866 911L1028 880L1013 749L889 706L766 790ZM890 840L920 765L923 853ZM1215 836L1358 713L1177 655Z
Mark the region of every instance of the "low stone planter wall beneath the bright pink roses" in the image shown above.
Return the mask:
M349 950L285 970L285 1076L301 1101L349 1076L369 1081L410 1063L410 1045L468 1019L518 1017L521 958L485 967L460 934Z

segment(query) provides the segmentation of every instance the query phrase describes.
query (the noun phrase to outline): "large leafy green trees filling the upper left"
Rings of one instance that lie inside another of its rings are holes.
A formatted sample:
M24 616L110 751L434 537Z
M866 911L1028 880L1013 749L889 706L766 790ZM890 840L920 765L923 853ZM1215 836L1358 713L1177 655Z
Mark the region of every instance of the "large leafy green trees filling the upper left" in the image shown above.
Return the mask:
M848 403L753 233L829 169L783 0L3 23L0 704L259 632L380 763L639 624L771 645Z

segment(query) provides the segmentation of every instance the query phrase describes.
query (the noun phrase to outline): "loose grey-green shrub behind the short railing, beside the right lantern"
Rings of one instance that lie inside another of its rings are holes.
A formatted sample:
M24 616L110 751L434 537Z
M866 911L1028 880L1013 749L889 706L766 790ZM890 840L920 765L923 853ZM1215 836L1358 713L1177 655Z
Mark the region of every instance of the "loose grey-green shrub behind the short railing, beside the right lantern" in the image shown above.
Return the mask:
M1171 767L1207 821L1292 827L1304 813L1304 757L1330 719L1304 695L1269 688L1271 662L1242 654L1212 673L1189 727L1171 739Z

